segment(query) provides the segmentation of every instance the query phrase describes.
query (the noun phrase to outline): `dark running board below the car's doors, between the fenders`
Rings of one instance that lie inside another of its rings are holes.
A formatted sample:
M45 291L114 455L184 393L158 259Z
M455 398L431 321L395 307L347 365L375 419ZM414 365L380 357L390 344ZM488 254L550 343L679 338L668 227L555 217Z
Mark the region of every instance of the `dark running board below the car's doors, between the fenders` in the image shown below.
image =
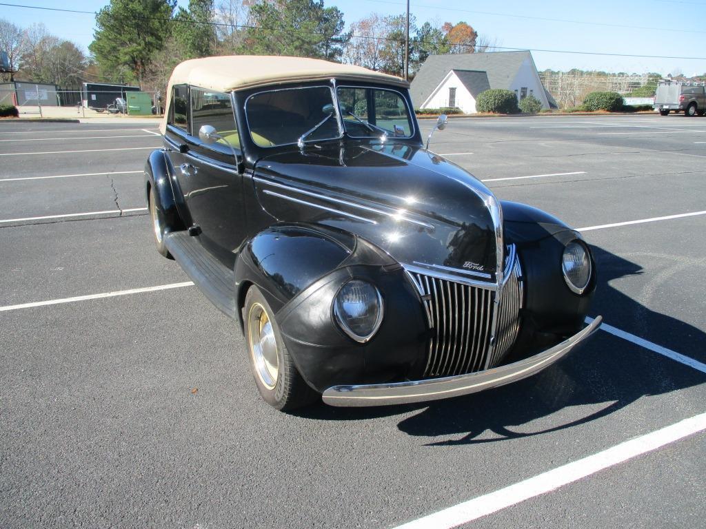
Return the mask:
M188 231L164 234L164 244L201 292L225 315L237 319L233 271L203 248Z

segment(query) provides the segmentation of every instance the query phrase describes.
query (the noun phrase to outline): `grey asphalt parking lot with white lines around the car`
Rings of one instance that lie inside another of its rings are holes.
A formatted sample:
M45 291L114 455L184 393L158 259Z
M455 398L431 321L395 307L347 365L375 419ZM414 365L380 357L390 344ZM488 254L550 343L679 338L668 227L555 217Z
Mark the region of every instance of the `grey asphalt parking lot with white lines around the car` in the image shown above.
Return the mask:
M451 120L434 151L585 233L611 327L510 386L296 415L155 251L159 146L0 122L1 528L703 526L706 117Z

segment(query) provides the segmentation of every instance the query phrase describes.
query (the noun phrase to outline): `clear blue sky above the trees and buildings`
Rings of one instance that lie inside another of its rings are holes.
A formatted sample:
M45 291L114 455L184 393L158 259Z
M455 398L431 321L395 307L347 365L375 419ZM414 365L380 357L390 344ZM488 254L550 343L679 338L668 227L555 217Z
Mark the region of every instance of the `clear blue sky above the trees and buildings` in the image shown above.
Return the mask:
M104 0L10 2L80 11L95 11L107 4ZM180 0L179 3L185 5L188 1ZM345 14L346 23L354 22L373 12L388 15L405 10L405 0L328 0L325 5L340 8ZM539 3L516 0L505 0L502 3L410 0L410 10L420 23L426 20L440 24L464 20L477 32L496 39L496 44L503 47L706 57L706 0L549 0ZM0 18L9 19L23 27L32 23L44 23L54 35L73 40L84 48L88 47L92 40L94 20L90 15L0 6ZM675 71L686 75L706 73L706 59L649 59L546 51L533 51L532 56L540 71L544 68L564 71L581 68L636 73L657 71L664 75Z

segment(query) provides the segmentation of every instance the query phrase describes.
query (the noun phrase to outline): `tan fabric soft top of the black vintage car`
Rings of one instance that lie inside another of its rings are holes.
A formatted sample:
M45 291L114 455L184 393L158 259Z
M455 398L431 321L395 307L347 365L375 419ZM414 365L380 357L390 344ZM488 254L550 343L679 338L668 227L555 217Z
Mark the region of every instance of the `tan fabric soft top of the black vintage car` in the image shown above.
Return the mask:
M257 55L203 57L203 59L184 61L174 68L167 86L165 109L169 109L173 85L198 86L214 92L233 92L264 85L301 83L330 78L409 87L407 81L393 75L321 59ZM167 131L166 112L160 124L160 130L162 134Z

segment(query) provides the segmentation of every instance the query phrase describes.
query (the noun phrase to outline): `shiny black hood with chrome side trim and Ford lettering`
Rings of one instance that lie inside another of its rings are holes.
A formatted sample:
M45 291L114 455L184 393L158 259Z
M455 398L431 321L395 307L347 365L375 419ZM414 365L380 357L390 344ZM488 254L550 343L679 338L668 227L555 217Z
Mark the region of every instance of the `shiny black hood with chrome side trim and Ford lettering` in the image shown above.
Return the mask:
M497 279L498 200L467 171L420 147L308 145L260 159L253 182L279 221L355 233L409 267Z

